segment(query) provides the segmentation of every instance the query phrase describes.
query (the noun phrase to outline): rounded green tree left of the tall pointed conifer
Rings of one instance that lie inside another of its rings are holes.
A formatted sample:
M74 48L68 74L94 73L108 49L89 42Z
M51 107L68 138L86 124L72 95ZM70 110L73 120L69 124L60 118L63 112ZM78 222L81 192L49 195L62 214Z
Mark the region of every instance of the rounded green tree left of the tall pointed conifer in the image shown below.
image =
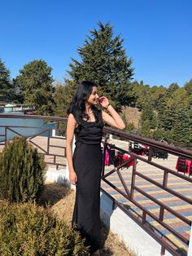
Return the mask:
M22 102L33 104L37 113L49 115L52 113L53 77L50 68L44 60L33 60L20 69L20 75L15 78L15 85L20 88Z

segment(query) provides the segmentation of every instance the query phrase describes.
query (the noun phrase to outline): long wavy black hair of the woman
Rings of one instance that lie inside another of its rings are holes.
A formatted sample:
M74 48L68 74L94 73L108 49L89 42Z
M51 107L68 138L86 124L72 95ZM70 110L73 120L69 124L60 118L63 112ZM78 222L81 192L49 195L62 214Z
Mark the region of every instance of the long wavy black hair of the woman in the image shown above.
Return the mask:
M81 82L76 88L76 93L72 99L72 102L69 104L68 115L72 113L79 126L82 126L83 120L88 120L89 118L85 113L85 102L89 98L89 95L91 95L94 86L96 86L94 82ZM98 108L96 108L94 105L92 106L92 110L94 112L97 126L103 126L103 120L101 114L99 114L101 111L98 110Z

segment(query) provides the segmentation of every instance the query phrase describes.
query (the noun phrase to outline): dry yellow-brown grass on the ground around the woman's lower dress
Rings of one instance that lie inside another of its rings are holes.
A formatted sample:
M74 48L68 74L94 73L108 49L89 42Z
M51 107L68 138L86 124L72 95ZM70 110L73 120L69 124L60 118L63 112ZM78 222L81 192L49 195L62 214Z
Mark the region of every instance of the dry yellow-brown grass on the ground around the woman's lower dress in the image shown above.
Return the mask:
M46 184L41 197L41 204L49 205L51 210L59 217L65 218L71 225L72 210L74 205L75 192L70 191L67 186L58 183ZM131 250L127 249L124 243L120 242L118 236L112 234L107 227L102 227L102 256L133 256Z

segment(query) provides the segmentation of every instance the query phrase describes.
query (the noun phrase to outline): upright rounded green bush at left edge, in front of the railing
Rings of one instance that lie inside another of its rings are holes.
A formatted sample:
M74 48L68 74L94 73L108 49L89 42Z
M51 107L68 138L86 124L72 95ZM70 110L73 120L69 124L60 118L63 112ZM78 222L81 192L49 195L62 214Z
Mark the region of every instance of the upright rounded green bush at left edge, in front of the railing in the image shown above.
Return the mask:
M0 199L37 201L44 183L46 164L25 138L14 138L0 155Z

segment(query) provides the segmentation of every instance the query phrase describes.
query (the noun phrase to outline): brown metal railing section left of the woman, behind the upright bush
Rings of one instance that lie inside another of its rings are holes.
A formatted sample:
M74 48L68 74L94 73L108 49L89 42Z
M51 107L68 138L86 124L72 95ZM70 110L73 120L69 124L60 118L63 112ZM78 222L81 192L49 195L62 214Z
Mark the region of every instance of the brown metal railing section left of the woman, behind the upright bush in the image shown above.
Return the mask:
M55 130L56 132L63 132L65 133L65 129L59 128L60 123L64 123L67 121L67 118L62 117L46 117L46 116L35 116L35 115L13 115L13 114L0 114L1 118L13 118L13 120L16 119L40 119L43 121L54 121L55 122L55 128L51 127L41 127L41 126L14 126L14 125L5 125L0 126L1 130L4 130L4 132L1 132L0 138L4 138L2 143L0 143L0 146L4 146L7 144L8 139L8 133L11 133L12 136L23 136L22 130L31 130L31 135L27 137L28 141L33 144L34 147L38 149L38 152L43 154L45 156L45 162L47 165L53 165L56 166L58 169L59 166L66 166L66 147L65 147L65 137L63 136L52 136L52 135L46 135L43 137L47 131ZM20 130L20 131L18 131ZM34 130L40 130L40 132L35 132ZM57 143L53 143L53 141L57 141ZM59 143L58 143L59 142ZM42 144L44 147L42 147ZM53 148L55 148L55 151L59 152L52 152Z

